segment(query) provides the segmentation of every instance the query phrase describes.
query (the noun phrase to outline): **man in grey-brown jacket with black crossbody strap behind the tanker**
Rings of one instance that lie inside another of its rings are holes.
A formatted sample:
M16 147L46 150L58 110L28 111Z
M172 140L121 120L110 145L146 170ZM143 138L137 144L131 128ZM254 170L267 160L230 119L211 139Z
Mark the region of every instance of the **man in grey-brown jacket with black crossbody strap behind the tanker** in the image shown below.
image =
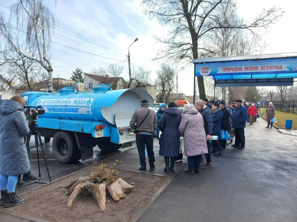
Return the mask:
M154 110L149 109L149 102L146 99L141 101L141 108L135 110L130 121L132 130L137 126L136 146L139 154L139 171L146 172L145 148L148 152L150 170L155 169L155 155L153 150L154 132L157 129L157 116Z

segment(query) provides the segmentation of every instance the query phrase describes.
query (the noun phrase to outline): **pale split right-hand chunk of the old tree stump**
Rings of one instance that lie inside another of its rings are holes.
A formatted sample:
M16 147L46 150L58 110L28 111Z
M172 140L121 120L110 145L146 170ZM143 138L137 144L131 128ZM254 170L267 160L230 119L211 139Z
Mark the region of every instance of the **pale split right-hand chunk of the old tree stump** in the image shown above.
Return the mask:
M121 198L126 196L124 192L134 188L134 186L127 184L124 180L122 180L122 178L118 178L113 184L108 186L107 189L113 200L119 201Z

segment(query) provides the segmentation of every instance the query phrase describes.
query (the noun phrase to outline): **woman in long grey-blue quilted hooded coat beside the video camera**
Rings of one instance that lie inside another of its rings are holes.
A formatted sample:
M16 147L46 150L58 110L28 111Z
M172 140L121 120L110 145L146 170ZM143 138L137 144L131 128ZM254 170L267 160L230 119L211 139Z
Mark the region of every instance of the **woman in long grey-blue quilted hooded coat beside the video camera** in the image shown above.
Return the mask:
M29 126L23 112L24 100L15 95L0 107L0 205L12 207L24 203L15 193L18 176L30 172L25 136Z

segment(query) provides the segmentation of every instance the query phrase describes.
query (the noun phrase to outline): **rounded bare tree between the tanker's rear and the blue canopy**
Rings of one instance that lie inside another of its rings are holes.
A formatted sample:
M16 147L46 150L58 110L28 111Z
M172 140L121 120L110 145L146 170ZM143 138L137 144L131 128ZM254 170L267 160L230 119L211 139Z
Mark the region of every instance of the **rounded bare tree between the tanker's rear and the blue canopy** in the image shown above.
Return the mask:
M163 64L161 69L157 71L157 78L155 80L155 85L158 92L159 102L168 102L168 97L170 93L173 92L175 88L175 77L176 72L167 64Z

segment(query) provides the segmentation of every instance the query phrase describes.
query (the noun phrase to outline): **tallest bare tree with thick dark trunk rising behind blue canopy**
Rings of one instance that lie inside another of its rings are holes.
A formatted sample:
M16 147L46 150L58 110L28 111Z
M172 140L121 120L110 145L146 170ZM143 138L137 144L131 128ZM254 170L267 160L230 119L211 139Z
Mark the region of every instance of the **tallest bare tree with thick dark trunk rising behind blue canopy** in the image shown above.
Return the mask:
M168 38L157 38L166 44L166 49L160 51L159 58L173 59L176 62L189 62L192 59L206 57L212 53L207 48L200 46L204 35L214 29L231 28L247 29L253 35L257 35L257 28L268 28L281 15L279 9L271 8L263 10L251 23L243 20L240 23L224 24L224 18L218 17L217 7L228 4L230 0L143 0L145 13L150 17L156 17L161 25L168 25L171 30ZM277 12L279 12L277 14ZM157 58L157 59L159 59ZM203 77L197 77L200 97L205 97Z

